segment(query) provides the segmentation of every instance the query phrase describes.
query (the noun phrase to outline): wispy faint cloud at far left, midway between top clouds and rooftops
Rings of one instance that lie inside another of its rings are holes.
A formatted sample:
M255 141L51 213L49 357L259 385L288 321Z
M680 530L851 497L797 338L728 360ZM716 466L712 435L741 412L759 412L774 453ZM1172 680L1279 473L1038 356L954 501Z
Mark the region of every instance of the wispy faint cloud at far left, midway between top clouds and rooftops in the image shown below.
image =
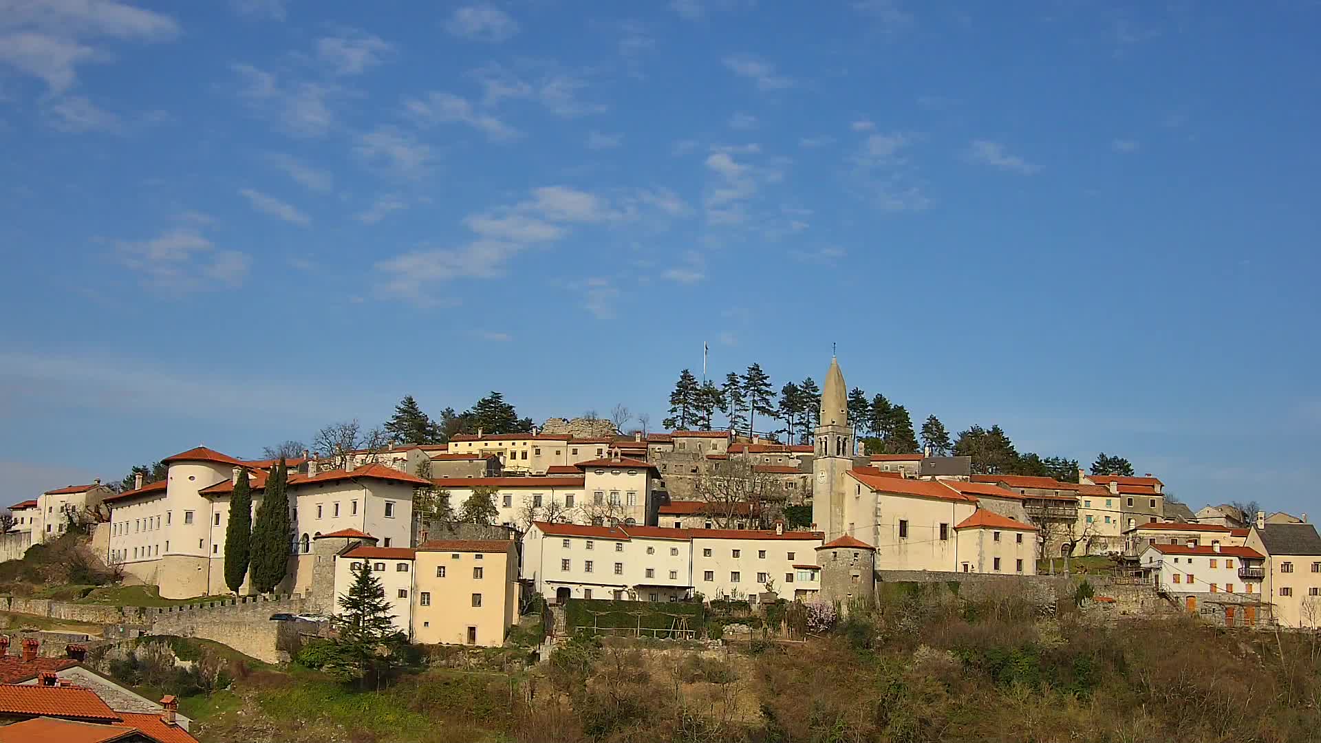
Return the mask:
M143 286L166 293L238 286L252 263L244 253L217 250L192 226L145 241L116 241L115 250L119 262L137 272Z

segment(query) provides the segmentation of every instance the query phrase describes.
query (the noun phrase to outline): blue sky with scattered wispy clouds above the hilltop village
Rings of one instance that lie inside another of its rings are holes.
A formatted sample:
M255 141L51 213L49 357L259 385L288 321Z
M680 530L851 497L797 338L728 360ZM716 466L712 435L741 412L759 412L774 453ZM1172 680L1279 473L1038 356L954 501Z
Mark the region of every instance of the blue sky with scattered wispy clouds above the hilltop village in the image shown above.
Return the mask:
M838 342L1321 512L1321 7L1009 5L0 0L0 497Z

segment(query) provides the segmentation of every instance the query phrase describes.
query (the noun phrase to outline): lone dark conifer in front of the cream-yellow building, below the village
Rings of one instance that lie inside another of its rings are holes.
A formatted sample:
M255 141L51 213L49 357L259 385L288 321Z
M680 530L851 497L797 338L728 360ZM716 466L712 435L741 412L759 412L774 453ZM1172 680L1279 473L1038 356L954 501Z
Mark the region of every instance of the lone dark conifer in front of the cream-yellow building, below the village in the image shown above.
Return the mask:
M371 570L370 561L351 566L353 583L349 592L338 599L333 625L338 632L334 643L339 646L336 664L326 670L341 678L361 678L380 674L392 664L395 646L403 644L403 635L394 625L390 602L380 579ZM382 653L382 648L391 652Z

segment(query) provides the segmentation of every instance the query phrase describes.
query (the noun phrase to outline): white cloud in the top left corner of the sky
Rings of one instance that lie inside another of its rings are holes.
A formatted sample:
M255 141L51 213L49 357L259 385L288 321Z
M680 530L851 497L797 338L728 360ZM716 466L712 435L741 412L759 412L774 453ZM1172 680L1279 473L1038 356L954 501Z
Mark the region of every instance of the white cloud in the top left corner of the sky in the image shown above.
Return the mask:
M96 40L165 41L178 30L166 15L115 0L0 0L0 65L58 94L74 85L81 63L114 58Z

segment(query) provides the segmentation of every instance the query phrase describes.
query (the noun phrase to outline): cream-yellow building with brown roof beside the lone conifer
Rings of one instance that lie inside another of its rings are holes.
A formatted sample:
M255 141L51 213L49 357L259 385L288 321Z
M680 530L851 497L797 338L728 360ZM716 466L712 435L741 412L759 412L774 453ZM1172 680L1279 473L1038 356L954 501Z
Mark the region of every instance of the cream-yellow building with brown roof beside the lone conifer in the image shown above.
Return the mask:
M448 539L417 547L413 641L495 646L518 621L513 541Z

